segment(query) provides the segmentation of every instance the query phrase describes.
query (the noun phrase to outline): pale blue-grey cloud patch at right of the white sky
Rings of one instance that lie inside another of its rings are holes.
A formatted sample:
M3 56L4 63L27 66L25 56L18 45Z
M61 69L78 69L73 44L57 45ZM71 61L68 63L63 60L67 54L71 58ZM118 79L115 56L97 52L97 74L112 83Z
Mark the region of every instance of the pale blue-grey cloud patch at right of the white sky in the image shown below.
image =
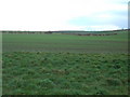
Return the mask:
M98 17L99 15L109 14L110 18ZM110 11L95 13L91 16L82 16L73 18L69 20L69 24L76 26L94 26L94 25L115 25L120 28L128 28L128 11Z

